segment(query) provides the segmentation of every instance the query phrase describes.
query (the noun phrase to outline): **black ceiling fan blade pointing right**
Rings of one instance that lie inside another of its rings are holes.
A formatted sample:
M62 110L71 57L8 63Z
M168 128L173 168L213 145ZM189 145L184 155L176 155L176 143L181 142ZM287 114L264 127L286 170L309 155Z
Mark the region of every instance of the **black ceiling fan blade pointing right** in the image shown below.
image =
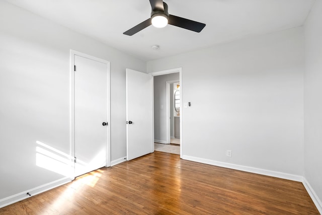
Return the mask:
M206 24L173 15L169 15L168 24L198 33L206 26Z

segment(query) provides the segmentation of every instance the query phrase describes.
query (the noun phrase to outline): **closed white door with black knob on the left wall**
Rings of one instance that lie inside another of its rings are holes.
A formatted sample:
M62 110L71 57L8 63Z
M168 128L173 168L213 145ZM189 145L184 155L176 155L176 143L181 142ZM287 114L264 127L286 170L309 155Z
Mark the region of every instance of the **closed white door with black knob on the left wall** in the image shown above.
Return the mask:
M108 64L74 55L75 177L107 165Z

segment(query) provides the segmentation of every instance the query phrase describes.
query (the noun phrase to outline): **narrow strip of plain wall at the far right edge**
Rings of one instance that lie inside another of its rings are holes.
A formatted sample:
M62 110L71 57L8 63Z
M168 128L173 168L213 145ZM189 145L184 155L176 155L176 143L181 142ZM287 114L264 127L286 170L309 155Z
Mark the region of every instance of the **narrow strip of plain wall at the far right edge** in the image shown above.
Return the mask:
M319 198L322 212L322 1L315 2L304 25L305 178Z

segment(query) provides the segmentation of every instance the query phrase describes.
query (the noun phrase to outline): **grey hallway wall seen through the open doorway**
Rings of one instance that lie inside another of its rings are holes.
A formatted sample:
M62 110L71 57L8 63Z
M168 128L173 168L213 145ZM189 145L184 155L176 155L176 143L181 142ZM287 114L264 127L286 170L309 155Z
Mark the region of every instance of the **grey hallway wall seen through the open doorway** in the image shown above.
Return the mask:
M179 80L179 72L153 77L154 100L154 140L167 142L167 81ZM161 105L163 109L161 109Z

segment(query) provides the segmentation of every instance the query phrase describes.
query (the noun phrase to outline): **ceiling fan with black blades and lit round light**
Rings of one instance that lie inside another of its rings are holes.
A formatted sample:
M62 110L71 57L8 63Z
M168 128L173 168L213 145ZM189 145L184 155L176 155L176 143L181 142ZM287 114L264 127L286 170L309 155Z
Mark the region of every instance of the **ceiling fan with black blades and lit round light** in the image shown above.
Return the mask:
M134 26L133 28L127 30L123 34L132 36L150 25L153 25L156 28L163 28L170 24L198 33L201 32L201 30L206 26L206 24L203 23L199 23L196 21L188 20L169 14L168 5L165 2L163 2L163 0L150 0L150 5L152 9L151 18Z

